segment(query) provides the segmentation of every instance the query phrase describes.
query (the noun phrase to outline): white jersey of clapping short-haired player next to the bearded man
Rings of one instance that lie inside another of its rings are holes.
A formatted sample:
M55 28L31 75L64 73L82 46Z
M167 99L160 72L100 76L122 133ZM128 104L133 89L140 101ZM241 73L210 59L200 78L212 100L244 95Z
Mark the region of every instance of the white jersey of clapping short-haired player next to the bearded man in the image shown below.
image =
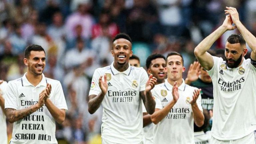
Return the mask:
M194 141L194 118L192 107L189 103L193 99L196 87L185 84L178 87L179 99L170 112L158 124L154 126L154 144L195 144ZM165 80L158 84L152 91L156 97L156 108L162 109L172 99L172 85ZM198 108L203 111L201 95L197 99Z

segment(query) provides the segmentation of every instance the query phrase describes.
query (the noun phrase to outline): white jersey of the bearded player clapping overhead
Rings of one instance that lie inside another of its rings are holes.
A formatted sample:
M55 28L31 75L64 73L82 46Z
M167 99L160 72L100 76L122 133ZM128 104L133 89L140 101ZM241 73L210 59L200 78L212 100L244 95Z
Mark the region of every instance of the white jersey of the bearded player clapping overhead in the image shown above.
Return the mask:
M213 82L212 136L218 140L242 138L256 130L256 68L245 60L228 68L222 58L213 57L208 71Z

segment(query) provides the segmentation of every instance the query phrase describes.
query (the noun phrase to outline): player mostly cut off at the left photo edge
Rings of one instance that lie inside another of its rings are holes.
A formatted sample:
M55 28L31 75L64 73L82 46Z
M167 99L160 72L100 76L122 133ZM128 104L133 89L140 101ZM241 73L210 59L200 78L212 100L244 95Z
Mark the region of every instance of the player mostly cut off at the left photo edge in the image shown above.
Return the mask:
M4 80L0 80L0 140L3 144L7 144L6 112L4 110L4 97L6 87L7 82Z

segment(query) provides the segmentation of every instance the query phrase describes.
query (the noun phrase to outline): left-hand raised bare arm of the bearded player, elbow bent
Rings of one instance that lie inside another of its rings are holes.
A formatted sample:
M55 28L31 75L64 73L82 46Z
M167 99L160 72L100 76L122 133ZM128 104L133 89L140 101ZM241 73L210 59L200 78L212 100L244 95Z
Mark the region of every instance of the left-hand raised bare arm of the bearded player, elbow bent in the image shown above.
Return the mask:
M207 36L201 43L198 44L198 46L194 50L194 54L199 61L200 65L207 71L211 70L213 67L213 58L212 56L207 52L213 43L227 30L234 30L236 27L232 26L232 19L230 15L227 15L223 24L215 30L213 33L211 33L209 36Z

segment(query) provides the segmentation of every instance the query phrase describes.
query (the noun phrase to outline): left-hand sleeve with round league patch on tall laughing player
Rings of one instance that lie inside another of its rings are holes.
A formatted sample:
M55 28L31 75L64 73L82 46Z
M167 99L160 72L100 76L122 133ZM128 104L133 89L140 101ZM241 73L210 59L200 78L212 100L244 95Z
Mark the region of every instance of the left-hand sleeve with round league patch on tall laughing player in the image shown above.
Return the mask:
M99 78L100 78L100 72L99 69L96 69L93 73L92 76L92 81L91 81L91 87L89 91L89 96L90 95L98 95L101 92L100 86L99 86Z

